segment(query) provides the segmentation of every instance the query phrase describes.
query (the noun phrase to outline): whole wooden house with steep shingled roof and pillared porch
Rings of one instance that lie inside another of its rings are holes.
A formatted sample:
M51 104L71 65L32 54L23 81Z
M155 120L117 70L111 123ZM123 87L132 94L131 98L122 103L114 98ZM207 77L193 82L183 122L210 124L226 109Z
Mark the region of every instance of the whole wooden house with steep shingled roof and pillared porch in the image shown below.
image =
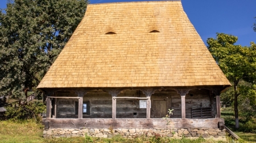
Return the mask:
M157 1L88 5L37 89L47 96L44 135L79 129L109 137L116 129L133 137L158 129L218 135L220 93L229 86L181 1ZM168 109L174 114L166 125Z

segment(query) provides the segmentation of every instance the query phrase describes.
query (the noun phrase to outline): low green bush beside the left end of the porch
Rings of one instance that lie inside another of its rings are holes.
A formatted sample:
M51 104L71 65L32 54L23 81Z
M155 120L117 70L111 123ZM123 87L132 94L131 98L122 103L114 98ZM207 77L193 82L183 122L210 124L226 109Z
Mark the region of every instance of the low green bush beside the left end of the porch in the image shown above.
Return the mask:
M30 102L27 105L20 105L18 107L6 107L5 116L11 120L26 120L34 119L40 122L42 113L46 112L46 106L43 102Z

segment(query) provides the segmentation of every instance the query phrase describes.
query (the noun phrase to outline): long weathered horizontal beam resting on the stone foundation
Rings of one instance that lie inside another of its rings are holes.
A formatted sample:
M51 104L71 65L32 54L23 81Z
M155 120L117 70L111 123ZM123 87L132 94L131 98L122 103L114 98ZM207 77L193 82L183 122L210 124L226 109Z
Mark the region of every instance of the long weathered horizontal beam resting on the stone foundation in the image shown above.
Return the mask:
M170 125L166 125L163 119L111 119L111 118L87 118L87 119L43 119L49 122L49 128L218 128L218 122L224 119L170 119Z

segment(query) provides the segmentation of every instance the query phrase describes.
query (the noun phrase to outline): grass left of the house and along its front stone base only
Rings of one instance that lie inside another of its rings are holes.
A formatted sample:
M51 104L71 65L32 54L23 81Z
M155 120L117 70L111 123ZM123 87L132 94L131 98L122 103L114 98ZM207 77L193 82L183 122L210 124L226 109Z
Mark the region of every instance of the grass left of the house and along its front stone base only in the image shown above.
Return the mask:
M217 141L204 140L203 138L198 138L196 140L189 140L188 138L181 139L171 139L171 138L161 138L161 137L138 137L133 139L122 138L120 136L115 136L113 138L96 138L96 137L72 137L72 138L43 138L43 126L41 124L36 124L32 120L26 121L0 121L0 142L98 142L98 143L108 143L108 142L123 142L123 143L162 143L162 142L174 142L174 143L199 143L208 142L214 143ZM219 141L221 142L221 141ZM222 141L223 142L223 141Z

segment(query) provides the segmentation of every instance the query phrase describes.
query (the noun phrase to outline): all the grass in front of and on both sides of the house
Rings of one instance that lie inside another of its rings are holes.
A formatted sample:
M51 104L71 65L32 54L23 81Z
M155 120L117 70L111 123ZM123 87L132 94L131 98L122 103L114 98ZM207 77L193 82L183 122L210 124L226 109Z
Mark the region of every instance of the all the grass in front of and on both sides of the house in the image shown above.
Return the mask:
M225 119L225 125L234 130L234 117L233 111L230 109L222 109L222 118ZM116 136L113 138L96 138L96 137L74 137L74 138L43 138L43 125L41 123L37 124L34 120L26 121L11 121L2 120L0 121L0 142L127 142L127 143L160 143L160 142L224 142L224 141L213 141L204 140L199 138L197 140L189 140L188 138L181 139L171 139L171 138L160 138L160 137L138 137L134 139L122 138ZM256 143L256 133L244 133L235 131L235 133L242 138L242 140L236 141L233 138L228 137L226 143L233 142L255 142Z

